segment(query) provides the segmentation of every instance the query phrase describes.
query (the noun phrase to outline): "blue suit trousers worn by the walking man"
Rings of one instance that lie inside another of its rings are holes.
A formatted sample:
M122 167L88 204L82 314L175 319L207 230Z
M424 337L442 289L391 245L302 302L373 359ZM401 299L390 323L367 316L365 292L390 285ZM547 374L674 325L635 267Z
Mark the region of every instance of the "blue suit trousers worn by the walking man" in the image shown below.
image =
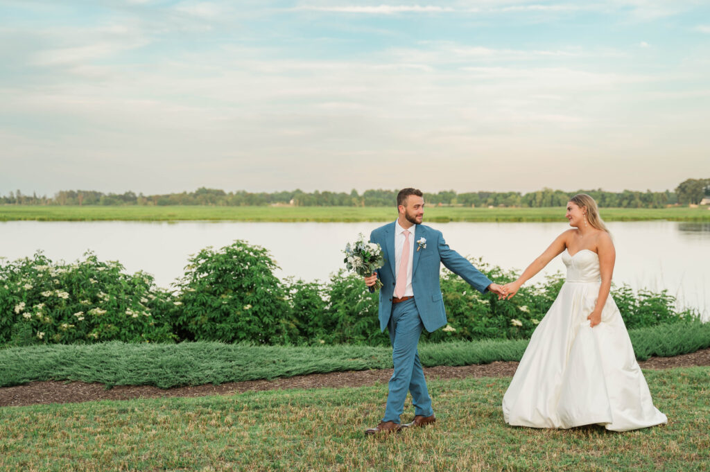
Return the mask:
M382 421L400 422L407 391L412 394L415 415L425 417L433 415L432 399L429 397L417 351L424 324L413 298L392 305L392 314L387 327L390 332L395 369L389 382L387 407Z

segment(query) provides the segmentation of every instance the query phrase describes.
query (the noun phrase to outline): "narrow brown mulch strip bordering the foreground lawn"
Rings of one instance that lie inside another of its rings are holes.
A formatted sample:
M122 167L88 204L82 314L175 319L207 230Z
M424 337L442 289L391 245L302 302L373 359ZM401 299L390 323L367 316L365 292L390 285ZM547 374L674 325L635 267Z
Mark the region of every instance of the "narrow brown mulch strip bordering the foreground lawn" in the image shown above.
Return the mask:
M674 357L652 357L639 363L645 369L710 366L710 348ZM425 368L427 379L466 377L510 377L518 367L517 362L493 362L477 366ZM47 403L74 403L94 400L131 400L156 397L203 397L206 395L231 395L247 391L283 390L289 388L341 388L361 387L387 383L392 369L373 371L348 371L298 375L275 380L250 380L223 383L222 385L193 385L161 389L149 385L116 385L107 389L100 383L84 382L31 382L25 385L0 388L0 407L36 405Z

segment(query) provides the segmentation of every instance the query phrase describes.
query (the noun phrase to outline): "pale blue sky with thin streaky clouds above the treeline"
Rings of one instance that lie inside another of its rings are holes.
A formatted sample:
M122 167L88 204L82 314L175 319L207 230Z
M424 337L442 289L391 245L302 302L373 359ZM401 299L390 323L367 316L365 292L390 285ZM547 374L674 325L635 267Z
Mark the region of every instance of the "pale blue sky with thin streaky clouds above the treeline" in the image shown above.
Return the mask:
M0 0L0 194L673 190L710 2Z

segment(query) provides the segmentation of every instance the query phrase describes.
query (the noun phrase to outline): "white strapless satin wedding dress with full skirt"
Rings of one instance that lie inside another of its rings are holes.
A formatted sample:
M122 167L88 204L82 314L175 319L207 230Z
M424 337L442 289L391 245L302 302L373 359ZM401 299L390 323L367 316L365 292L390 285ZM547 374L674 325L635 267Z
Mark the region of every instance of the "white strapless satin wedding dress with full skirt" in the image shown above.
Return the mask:
M565 251L567 280L540 324L503 396L513 426L571 428L602 424L628 431L663 424L611 295L601 323L586 317L599 296L599 256Z

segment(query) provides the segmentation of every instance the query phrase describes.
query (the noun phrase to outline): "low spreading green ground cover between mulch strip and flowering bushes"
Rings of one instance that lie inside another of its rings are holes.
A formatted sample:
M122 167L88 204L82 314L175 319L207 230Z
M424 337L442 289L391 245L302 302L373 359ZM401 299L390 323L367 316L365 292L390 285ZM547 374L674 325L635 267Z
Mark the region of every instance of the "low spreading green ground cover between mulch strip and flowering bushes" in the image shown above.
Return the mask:
M637 358L674 356L710 347L710 324L662 324L629 330ZM526 339L420 344L422 365L469 366L519 361ZM34 380L82 380L106 385L239 382L310 373L391 368L384 346L253 346L215 342L24 346L0 349L0 387Z

